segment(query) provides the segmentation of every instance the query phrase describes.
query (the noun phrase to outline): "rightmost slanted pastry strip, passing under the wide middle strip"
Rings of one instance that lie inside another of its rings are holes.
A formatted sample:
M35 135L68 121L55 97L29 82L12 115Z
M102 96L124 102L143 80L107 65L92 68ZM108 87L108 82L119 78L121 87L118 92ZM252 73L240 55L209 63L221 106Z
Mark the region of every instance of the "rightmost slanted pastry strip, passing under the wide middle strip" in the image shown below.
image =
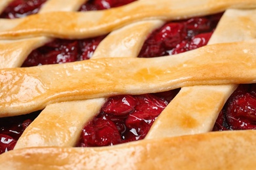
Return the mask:
M226 10L208 44L255 38L255 15L256 10ZM154 122L146 139L211 131L224 103L236 87L237 85L182 88Z

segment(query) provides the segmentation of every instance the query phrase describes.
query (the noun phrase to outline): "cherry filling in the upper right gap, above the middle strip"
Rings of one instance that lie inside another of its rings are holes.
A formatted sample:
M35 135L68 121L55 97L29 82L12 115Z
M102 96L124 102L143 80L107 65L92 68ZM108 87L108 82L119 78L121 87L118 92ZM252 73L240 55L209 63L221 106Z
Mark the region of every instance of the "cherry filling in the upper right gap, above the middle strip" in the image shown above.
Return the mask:
M169 22L148 37L140 58L168 56L205 46L222 14Z

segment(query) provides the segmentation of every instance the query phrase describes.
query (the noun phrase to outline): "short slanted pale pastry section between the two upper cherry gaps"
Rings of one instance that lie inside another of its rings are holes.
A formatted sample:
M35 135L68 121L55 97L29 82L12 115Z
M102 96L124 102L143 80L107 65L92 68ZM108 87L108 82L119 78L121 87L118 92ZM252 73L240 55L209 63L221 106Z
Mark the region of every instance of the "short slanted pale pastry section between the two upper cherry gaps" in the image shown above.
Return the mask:
M148 35L163 24L161 20L150 20L135 22L135 24L117 29L100 42L93 54L93 59L136 58Z

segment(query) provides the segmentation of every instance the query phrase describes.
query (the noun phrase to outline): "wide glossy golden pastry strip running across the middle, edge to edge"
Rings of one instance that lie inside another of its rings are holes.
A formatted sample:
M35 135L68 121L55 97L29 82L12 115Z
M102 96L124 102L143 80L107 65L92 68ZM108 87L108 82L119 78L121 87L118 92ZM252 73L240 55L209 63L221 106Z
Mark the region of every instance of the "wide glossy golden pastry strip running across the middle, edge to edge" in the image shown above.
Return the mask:
M253 83L255 43L213 44L171 57L100 58L1 69L0 114L25 114L49 103L117 94L164 92L199 84Z

